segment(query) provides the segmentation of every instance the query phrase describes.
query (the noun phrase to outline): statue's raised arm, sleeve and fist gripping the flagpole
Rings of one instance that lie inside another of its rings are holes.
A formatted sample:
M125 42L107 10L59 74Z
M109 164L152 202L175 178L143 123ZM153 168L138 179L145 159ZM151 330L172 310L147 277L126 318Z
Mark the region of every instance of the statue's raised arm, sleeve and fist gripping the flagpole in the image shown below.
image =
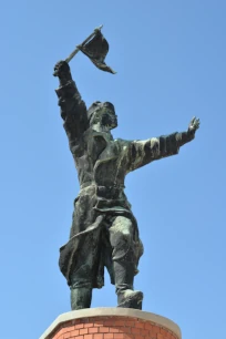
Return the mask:
M55 64L53 75L60 81L60 86L55 92L61 107L61 117L64 121L63 126L70 143L73 143L88 129L86 106L65 61L59 61Z

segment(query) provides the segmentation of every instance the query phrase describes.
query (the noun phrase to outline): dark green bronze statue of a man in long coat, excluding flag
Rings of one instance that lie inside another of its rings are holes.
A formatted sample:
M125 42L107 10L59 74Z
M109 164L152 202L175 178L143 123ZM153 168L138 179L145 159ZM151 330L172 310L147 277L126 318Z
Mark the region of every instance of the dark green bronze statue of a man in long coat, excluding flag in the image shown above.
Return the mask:
M91 306L92 289L104 285L104 267L115 285L117 306L142 309L143 294L133 289L143 254L136 219L124 194L125 175L155 160L178 153L195 137L199 120L188 130L145 141L113 140L117 126L113 104L81 99L69 64L54 68L63 126L78 170L80 193L74 201L70 239L60 249L60 269L71 289L71 308Z

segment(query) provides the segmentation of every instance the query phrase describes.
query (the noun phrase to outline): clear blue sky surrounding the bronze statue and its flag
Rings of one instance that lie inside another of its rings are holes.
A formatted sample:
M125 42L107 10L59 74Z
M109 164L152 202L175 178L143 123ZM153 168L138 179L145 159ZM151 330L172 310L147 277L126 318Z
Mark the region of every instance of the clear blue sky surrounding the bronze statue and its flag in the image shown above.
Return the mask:
M2 1L0 13L1 337L39 338L70 310L58 257L79 185L52 70L103 23L117 74L82 54L71 69L88 105L114 103L114 136L185 131L194 115L202 123L179 155L126 179L145 246L143 309L177 322L183 339L225 338L226 2L20 0ZM93 307L115 305L106 277Z

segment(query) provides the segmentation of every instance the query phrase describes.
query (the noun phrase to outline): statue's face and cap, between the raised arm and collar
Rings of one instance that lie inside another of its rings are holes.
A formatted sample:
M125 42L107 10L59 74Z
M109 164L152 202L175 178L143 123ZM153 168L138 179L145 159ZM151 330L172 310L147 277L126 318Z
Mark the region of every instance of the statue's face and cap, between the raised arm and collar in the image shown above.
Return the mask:
M117 116L114 106L110 103L100 103L91 117L91 124L100 123L102 126L113 130L117 126Z

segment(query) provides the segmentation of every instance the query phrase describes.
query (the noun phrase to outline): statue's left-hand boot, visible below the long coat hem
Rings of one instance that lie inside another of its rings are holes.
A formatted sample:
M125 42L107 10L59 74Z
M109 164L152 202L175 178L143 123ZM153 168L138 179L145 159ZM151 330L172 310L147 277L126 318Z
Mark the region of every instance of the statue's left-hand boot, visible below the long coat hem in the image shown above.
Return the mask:
M71 309L90 308L92 299L92 288L71 288Z

